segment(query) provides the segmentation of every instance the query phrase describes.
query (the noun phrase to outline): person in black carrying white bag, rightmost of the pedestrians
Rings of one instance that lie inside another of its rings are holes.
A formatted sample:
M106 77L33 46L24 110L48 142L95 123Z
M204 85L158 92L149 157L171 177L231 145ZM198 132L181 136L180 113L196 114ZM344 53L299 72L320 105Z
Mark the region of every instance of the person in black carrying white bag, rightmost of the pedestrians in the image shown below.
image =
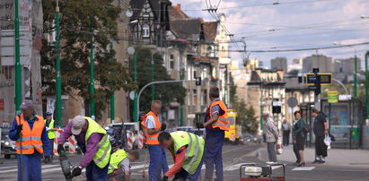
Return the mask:
M328 134L328 123L326 116L316 108L312 108L312 116L315 117L313 131L315 134L315 154L316 159L312 163L325 163L327 157L327 145L324 137Z

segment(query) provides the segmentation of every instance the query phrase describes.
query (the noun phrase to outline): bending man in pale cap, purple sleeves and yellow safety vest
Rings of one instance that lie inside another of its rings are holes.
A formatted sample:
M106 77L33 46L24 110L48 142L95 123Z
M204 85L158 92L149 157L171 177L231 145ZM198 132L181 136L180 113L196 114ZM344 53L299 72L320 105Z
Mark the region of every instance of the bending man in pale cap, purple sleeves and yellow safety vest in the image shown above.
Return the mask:
M72 134L84 153L79 166L72 170L72 176L81 175L82 169L86 168L87 180L108 180L111 145L105 129L88 116L75 116L60 134L58 152L64 151L63 144Z

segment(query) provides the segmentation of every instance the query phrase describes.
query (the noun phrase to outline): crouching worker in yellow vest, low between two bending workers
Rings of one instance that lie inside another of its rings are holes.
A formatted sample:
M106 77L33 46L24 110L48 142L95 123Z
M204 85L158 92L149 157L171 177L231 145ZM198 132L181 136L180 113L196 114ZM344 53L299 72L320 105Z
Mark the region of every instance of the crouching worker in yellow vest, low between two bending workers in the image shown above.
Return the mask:
M138 151L118 150L111 153L108 177L110 181L130 180L129 162L139 159Z

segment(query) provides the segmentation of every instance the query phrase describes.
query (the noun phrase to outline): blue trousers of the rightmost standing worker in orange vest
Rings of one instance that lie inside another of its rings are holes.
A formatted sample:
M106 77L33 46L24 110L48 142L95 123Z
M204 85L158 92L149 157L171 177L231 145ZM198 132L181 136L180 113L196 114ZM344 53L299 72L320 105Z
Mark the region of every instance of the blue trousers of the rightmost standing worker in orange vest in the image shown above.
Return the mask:
M206 134L204 163L206 167L205 179L213 180L214 165L216 180L223 181L223 159L222 148L224 142L224 131L209 132Z

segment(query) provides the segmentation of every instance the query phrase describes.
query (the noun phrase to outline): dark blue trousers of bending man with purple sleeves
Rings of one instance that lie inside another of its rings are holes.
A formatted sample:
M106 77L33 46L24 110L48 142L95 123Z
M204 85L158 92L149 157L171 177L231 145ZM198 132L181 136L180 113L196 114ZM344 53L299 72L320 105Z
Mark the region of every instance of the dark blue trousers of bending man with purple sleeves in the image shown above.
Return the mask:
M91 161L86 167L86 178L87 181L106 181L108 180L108 167L99 168L95 162Z

